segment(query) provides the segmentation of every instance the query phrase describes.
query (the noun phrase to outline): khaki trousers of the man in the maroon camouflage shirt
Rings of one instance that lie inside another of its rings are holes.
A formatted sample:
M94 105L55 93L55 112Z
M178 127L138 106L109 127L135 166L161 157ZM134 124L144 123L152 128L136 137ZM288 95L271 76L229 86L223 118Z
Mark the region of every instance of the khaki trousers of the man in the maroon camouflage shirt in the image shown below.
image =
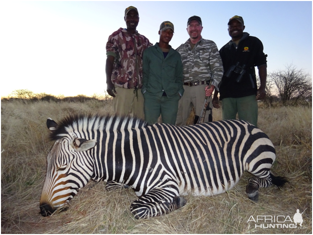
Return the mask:
M126 89L122 87L115 87L117 94L113 98L114 114L118 116L134 116L141 119L144 115L144 97L141 94L141 89L137 90L138 99L136 97L135 89Z

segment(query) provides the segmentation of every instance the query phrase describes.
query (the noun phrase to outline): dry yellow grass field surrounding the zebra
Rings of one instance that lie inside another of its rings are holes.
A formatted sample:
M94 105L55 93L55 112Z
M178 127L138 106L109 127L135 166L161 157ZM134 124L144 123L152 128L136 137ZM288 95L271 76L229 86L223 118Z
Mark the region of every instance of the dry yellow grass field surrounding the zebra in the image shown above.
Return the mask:
M26 234L310 234L312 233L312 109L260 109L259 127L276 145L273 172L289 178L284 188L260 190L260 202L247 199L245 173L235 189L214 197L188 196L188 203L168 215L135 220L129 207L131 189L108 192L105 183L90 182L69 209L51 217L39 215L46 171L47 117L73 113L113 113L111 101L85 103L1 102L1 233ZM213 118L221 119L214 110ZM250 216L303 214L306 227L260 229Z

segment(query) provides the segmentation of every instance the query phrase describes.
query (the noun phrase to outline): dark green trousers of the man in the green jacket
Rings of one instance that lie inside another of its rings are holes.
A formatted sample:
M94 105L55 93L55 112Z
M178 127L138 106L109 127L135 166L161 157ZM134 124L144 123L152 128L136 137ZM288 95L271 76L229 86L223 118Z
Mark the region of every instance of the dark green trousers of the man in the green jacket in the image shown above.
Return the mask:
M167 96L159 98L145 92L144 100L145 120L149 124L157 123L160 115L162 123L175 124L179 101L178 94L173 98L167 98Z

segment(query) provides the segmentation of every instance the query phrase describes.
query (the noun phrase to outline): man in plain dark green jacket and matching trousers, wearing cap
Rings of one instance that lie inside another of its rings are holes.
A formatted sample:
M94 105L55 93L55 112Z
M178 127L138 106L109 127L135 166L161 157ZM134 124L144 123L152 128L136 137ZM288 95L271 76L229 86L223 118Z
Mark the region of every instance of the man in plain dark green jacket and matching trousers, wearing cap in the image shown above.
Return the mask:
M149 124L175 124L178 101L182 97L182 62L178 52L168 44L174 25L164 21L158 31L159 42L147 48L143 55L143 87L145 120Z

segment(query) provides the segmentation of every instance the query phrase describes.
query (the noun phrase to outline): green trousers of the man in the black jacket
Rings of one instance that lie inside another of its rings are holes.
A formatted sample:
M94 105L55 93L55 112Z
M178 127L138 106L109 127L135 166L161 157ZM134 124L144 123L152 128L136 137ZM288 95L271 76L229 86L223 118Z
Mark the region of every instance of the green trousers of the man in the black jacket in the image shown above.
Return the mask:
M248 121L257 126L258 124L258 102L256 96L242 98L224 98L222 100L223 119L236 119Z

